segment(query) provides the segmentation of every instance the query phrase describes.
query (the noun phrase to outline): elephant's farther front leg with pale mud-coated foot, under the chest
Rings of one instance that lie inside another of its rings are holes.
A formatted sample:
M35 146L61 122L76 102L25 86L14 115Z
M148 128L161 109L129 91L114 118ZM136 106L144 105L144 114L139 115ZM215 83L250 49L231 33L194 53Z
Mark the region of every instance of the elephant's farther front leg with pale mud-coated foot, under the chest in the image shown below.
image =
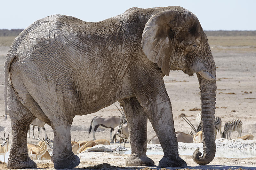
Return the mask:
M126 166L152 166L154 161L147 157L147 114L136 97L124 100L124 112L128 122L132 154ZM124 141L125 142L125 141Z

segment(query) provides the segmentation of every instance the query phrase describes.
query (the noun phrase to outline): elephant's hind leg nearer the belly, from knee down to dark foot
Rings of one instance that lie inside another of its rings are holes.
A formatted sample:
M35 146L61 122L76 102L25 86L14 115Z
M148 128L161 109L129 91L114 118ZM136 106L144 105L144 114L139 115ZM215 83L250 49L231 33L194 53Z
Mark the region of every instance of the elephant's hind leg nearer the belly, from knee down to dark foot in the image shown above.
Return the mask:
M74 168L79 165L80 159L78 156L74 155L71 148L71 122L68 123L64 120L59 120L55 123L56 124L52 124L52 129L54 133L52 151L54 168Z

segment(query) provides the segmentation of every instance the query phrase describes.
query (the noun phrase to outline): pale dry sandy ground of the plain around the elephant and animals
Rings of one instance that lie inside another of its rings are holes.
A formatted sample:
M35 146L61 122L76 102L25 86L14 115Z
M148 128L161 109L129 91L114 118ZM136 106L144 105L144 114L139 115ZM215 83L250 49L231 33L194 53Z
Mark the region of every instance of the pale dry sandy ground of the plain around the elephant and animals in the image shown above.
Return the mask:
M248 50L249 49L249 50ZM8 47L0 47L0 94L3 94L4 80L3 80L3 65L5 54ZM256 48L247 46L240 47L222 47L212 46L212 54L217 66L217 101L216 101L216 116L222 120L222 131L225 122L234 119L241 119L243 121L242 135L252 134L256 136ZM164 77L165 87L172 102L172 110L174 117L175 131L188 133L190 127L179 117L181 113L186 114L192 123L195 122L196 115L200 111L189 111L193 108L200 108L200 93L199 85L196 75L189 77L182 71L172 71L169 77ZM88 135L90 123L95 116L120 116L120 112L115 105L110 105L96 113L84 116L76 116L71 127L71 138L76 136L80 140L92 140L92 134ZM0 95L0 120L4 118L4 98ZM4 132L11 132L11 121L8 116L7 121L1 121L0 136L3 137ZM53 139L53 131L50 126L45 125L47 135ZM32 136L32 133L30 132ZM37 130L35 130L37 135ZM42 137L44 133L40 135ZM155 132L148 122L148 139L155 135ZM231 134L232 138L236 138L237 132ZM10 135L11 136L11 135ZM109 130L99 129L95 136L97 139L109 140ZM220 134L217 134L220 138ZM28 138L29 143L37 143L36 139ZM81 159L81 163L77 168L83 169L88 167L90 169L123 169L125 167L125 160L128 155L116 155L102 153L105 156L102 158L87 158ZM107 156L106 156L107 155ZM113 157L115 156L115 157ZM157 167L161 155L149 155L156 166L149 168L159 169ZM207 166L198 166L192 160L191 156L181 155L189 169L256 169L256 158L214 158L214 160ZM38 168L52 169L53 164L49 160L36 161ZM102 166L93 167L101 163L108 163ZM89 167L92 166L92 167ZM5 169L6 164L0 164L0 169ZM140 169L145 167L126 167L126 169ZM176 169L176 168L172 168Z

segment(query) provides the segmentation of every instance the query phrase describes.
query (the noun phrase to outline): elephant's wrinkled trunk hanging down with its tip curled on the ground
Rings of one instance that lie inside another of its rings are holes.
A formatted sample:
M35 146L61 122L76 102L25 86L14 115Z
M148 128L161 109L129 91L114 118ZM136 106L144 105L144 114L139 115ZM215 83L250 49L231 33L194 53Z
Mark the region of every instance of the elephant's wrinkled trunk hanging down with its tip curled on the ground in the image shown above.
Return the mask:
M212 55L211 55L212 58ZM209 70L211 74L216 76L215 64L212 58L212 61L209 63ZM214 156L216 151L215 146L215 133L214 133L214 114L215 114L215 101L216 101L216 80L206 80L199 73L197 78L200 85L201 91L201 119L202 119L202 134L203 134L203 143L204 143L204 153L202 157L201 152L194 151L193 160L199 165L209 164Z

